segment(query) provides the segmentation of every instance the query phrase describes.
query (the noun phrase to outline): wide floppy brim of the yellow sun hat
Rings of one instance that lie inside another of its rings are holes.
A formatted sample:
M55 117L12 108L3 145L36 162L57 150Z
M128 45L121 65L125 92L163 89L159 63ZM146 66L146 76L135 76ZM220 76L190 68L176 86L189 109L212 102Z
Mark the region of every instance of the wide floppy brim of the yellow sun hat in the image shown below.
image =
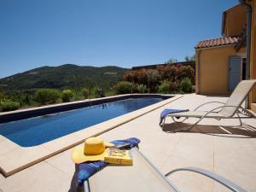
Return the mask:
M106 156L106 149L102 154L97 155L85 155L84 154L84 144L80 144L76 148L73 149L72 160L76 164L84 163L86 161L96 161L96 160L104 160Z

